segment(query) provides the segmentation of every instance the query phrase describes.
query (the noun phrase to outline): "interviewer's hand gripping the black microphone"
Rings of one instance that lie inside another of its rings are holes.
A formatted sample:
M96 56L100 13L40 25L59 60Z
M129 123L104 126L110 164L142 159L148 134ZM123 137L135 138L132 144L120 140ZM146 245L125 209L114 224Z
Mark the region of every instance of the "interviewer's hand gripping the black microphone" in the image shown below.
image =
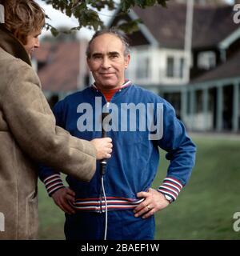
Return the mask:
M94 144L97 150L97 159L110 158L112 153L112 139L111 138L94 138L91 143Z

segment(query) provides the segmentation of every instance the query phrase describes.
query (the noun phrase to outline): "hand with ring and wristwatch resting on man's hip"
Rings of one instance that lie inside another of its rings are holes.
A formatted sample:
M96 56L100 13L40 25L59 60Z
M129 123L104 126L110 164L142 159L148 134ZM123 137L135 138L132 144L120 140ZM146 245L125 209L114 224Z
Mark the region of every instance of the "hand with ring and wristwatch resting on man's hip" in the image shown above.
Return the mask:
M134 208L135 217L142 216L142 218L148 218L170 204L162 193L151 188L147 192L139 192L137 196L138 198L145 198L145 200Z

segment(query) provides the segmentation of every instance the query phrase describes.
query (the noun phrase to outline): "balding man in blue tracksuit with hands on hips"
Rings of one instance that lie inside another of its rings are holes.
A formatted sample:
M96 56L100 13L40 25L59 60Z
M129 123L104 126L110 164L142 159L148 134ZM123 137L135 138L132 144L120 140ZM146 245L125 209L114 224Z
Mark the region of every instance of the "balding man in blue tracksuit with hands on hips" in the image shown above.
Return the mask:
M86 140L102 137L102 112L110 113L103 121L113 140L105 174L98 162L90 182L67 176L65 187L60 174L40 167L48 194L66 212L66 239L153 239L154 213L175 201L190 178L194 143L170 103L125 79L129 61L121 34L98 31L87 49L94 85L54 106L57 125ZM170 166L154 190L158 147L166 150Z

